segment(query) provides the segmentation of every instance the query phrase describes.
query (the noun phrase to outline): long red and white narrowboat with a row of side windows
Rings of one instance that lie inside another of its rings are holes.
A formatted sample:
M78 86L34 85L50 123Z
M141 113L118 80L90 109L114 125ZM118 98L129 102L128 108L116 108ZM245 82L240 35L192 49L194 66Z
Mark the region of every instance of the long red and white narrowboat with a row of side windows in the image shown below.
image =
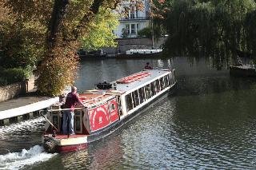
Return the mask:
M99 83L95 89L79 94L86 108L77 105L74 110L74 135L62 134L63 109L52 106L48 110L43 147L46 152L85 149L172 93L176 83L174 69L143 69L117 81Z

